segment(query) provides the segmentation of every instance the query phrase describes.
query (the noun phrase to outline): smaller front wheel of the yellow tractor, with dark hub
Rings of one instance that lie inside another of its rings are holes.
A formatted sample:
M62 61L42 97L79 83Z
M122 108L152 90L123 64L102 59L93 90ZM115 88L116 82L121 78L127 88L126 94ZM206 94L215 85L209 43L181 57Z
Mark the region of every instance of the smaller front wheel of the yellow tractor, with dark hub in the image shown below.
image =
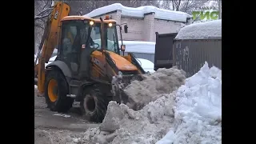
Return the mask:
M91 122L102 122L109 103L106 95L97 86L86 88L84 98L80 102L82 114Z

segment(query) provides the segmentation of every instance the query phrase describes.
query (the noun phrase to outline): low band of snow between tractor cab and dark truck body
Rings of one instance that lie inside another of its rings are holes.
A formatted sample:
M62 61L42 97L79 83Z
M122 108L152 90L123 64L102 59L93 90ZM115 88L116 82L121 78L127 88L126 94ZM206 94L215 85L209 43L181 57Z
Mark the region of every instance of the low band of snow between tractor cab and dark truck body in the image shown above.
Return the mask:
M126 45L126 52L154 54L155 42L122 41ZM119 47L122 44L118 41Z

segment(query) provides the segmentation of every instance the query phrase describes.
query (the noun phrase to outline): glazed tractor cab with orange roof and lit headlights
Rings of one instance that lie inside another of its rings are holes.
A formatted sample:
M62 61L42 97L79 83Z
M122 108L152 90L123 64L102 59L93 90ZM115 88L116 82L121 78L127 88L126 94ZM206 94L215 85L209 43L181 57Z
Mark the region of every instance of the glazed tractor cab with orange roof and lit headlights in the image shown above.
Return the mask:
M120 54L114 20L67 16L62 18L60 31L56 61L66 64L71 78L90 78L90 59L94 51L98 51L94 53L98 56L103 50Z

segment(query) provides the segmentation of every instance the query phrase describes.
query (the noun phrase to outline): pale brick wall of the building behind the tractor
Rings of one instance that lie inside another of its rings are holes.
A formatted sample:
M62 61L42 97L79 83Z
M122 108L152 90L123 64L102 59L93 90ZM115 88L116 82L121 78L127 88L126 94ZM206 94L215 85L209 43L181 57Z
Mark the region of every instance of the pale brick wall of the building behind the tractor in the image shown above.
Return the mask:
M108 14L102 14L94 18L105 18L106 15L117 21L118 24L127 23L128 33L123 30L122 39L125 41L146 41L155 42L155 32L159 34L175 33L182 22L173 22L154 18L154 13L145 14L144 18L130 18L121 16L121 10L117 10ZM118 29L118 38L120 38Z

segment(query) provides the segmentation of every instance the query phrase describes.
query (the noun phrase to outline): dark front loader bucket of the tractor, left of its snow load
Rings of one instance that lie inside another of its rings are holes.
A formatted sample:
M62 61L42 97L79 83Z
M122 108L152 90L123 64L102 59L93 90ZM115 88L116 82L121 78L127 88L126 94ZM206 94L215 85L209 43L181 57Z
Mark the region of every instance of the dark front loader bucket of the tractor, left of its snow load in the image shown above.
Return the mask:
M138 106L132 106L134 101L129 98L129 95L125 93L126 86L130 85L130 82L137 80L142 81L144 79L141 74L134 75L118 75L112 78L112 93L118 103L123 103L129 106L131 109L137 110Z

